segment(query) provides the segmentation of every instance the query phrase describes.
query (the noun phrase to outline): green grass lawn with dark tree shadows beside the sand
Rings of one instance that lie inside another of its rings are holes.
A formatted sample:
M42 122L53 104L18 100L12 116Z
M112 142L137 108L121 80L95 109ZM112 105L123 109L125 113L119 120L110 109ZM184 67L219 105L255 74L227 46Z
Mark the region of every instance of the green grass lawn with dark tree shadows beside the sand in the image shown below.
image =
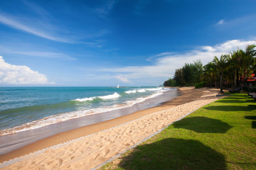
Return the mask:
M102 169L256 169L256 102L210 103Z

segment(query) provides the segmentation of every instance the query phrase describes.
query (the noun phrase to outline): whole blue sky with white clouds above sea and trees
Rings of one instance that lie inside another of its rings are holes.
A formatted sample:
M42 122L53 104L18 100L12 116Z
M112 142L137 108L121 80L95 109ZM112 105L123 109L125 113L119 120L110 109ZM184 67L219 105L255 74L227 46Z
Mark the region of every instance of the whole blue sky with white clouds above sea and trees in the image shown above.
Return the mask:
M255 0L0 1L0 86L159 86L256 44Z

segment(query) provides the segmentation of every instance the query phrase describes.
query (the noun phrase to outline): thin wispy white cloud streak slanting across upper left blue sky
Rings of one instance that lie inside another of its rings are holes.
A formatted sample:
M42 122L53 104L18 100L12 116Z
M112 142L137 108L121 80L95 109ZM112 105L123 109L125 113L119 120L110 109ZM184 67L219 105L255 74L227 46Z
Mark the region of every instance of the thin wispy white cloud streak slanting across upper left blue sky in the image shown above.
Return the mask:
M12 16L6 13L0 13L0 23L14 28L16 30L21 30L32 35L36 35L41 38L46 38L48 40L53 40L57 42L66 43L89 43L93 47L98 47L102 45L102 42L97 40L93 42L81 42L82 39L100 38L107 33L108 30L100 30L95 33L80 33L80 31L71 31L68 28L59 28L54 24L49 23L46 17L37 18L27 18L22 16Z

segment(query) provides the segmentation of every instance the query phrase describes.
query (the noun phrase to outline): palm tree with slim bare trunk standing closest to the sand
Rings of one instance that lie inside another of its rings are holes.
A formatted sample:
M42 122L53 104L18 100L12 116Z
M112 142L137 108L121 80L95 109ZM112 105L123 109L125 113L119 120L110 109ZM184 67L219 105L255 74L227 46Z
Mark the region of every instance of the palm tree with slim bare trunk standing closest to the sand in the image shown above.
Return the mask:
M213 64L215 66L216 72L218 72L220 76L220 93L223 93L223 71L227 65L229 55L221 55L220 60L218 57L214 57Z

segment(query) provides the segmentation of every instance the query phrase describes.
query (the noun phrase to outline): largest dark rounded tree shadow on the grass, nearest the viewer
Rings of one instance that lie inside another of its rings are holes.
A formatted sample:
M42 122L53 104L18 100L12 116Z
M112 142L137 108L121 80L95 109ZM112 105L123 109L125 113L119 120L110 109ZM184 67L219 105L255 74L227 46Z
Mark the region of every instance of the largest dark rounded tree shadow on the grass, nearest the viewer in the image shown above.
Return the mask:
M223 154L196 140L167 138L122 157L124 169L226 169Z

